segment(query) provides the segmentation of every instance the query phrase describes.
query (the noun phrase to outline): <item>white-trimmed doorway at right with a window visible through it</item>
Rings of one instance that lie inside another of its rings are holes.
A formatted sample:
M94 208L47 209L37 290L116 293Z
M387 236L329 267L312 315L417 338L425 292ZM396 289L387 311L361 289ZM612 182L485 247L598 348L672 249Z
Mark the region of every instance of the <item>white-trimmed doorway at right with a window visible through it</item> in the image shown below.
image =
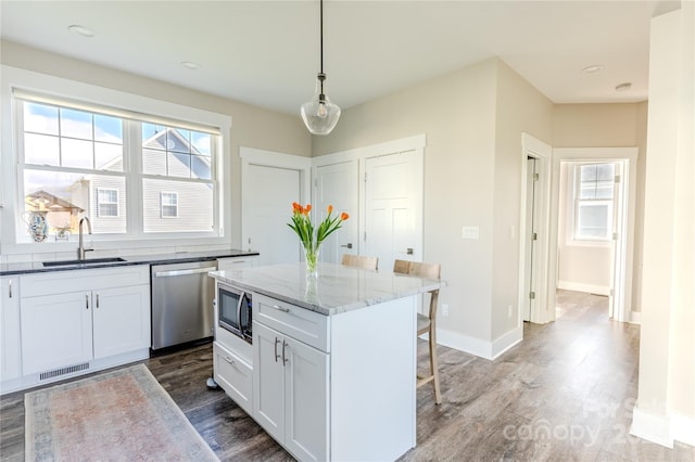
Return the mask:
M620 322L631 319L636 156L634 147L553 151L554 287L607 297ZM552 291L548 320L560 296Z

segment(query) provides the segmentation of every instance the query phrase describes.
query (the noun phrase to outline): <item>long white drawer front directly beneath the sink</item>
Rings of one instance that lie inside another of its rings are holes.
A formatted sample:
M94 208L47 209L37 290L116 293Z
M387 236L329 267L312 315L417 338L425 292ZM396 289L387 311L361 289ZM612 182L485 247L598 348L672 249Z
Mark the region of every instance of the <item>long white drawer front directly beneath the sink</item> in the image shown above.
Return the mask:
M149 284L149 270L147 265L135 265L122 268L49 271L23 275L22 298Z

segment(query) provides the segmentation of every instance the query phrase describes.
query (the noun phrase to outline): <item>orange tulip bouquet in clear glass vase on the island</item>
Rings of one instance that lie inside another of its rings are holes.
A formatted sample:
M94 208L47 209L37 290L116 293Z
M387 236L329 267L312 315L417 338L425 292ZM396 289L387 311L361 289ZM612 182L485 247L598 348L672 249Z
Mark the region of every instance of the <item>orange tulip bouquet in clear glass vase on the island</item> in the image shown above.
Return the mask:
M328 215L318 224L318 228L314 230L309 213L312 211L312 204L306 204L306 207L292 203L292 222L287 223L292 228L296 235L302 241L304 246L304 255L306 257L306 273L309 275L316 275L316 260L318 258L318 249L321 243L332 232L340 229L343 221L350 218L344 211L340 216L333 217L333 206L328 206Z

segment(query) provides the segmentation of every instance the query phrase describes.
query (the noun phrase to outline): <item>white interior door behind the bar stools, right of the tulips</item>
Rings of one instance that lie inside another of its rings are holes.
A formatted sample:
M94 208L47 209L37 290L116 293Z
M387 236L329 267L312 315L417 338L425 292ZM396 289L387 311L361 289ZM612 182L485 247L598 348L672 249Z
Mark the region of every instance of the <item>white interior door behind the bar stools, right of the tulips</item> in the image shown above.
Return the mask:
M365 159L365 252L392 270L422 260L422 157L416 151Z

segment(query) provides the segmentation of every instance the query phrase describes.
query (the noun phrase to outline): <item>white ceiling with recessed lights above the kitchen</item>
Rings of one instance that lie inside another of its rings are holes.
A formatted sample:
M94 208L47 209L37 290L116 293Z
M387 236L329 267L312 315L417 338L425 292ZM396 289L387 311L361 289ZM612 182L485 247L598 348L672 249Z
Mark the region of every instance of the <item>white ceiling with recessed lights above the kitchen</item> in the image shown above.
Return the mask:
M326 0L328 95L348 108L496 55L555 103L644 101L649 20L678 8ZM292 114L312 97L319 68L317 0L3 0L0 18L3 40ZM74 24L94 37L72 34ZM581 72L590 65L604 67ZM623 82L632 89L617 92Z

